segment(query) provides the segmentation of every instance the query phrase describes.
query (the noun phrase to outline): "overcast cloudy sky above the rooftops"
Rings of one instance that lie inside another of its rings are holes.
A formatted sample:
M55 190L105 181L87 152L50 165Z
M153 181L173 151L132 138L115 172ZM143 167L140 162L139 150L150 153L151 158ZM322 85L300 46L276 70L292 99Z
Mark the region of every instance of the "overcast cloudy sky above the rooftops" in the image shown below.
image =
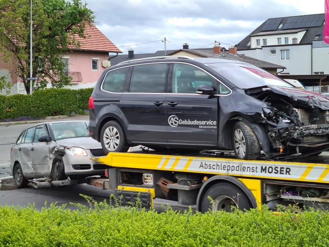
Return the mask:
M236 45L268 18L324 13L324 0L81 0L123 53ZM156 42L153 42L156 41ZM147 43L152 42L152 43ZM147 44L141 44L147 43ZM137 45L140 44L140 45ZM131 45L131 46L127 46Z

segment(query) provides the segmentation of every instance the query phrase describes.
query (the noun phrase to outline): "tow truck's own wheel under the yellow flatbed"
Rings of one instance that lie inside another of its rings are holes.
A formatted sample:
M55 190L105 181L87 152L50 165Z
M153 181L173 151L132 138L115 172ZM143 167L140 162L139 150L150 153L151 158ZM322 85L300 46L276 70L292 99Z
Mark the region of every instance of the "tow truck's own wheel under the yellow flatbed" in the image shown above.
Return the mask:
M209 198L211 200L209 200ZM232 183L219 182L214 184L206 192L201 205L201 211L207 212L209 210L232 212L235 206L240 210L249 210L252 204L245 193L234 186Z

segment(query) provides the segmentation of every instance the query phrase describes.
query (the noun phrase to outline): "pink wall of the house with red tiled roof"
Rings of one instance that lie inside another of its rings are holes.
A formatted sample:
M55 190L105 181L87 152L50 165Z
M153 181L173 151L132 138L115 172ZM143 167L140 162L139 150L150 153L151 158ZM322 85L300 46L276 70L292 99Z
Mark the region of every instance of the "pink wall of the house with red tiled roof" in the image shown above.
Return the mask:
M86 51L75 51L72 53L64 54L63 57L70 57L70 72L81 72L82 81L81 82L73 82L73 84L77 83L91 83L96 82L98 77L102 74L102 72L106 69L102 66L102 61L109 59L108 52L86 52ZM99 59L99 70L93 71L91 59L98 58Z

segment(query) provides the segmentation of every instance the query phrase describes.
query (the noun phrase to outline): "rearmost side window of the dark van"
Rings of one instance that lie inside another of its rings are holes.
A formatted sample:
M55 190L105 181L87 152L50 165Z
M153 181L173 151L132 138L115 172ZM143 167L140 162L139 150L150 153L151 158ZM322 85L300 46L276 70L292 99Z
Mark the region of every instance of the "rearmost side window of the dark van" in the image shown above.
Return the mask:
M129 68L122 68L107 73L103 81L102 89L110 92L123 92L128 70Z

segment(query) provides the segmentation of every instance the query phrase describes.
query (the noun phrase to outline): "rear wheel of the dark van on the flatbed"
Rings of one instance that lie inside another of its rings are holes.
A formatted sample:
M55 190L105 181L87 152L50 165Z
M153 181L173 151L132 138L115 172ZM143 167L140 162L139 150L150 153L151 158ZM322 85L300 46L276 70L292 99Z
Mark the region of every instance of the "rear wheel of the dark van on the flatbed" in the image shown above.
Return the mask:
M108 121L101 131L101 144L106 154L109 152L126 152L129 144L124 131L117 121Z

